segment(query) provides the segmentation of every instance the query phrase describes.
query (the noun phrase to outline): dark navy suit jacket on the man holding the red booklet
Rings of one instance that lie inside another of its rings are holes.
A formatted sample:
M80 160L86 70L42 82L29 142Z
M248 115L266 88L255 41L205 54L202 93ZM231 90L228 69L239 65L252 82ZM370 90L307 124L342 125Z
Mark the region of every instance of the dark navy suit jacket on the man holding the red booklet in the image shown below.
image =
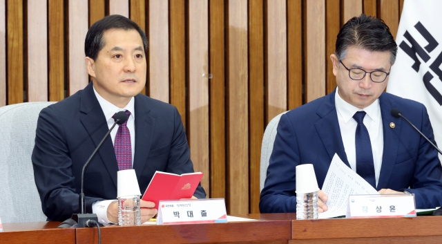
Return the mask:
M65 220L79 212L81 170L108 131L92 82L84 90L43 109L32 152L35 184L48 220ZM145 95L135 96L133 169L144 194L155 171L193 172L189 145L175 106ZM117 159L111 136L84 173L86 211L97 200L117 197ZM194 196L205 198L202 187Z

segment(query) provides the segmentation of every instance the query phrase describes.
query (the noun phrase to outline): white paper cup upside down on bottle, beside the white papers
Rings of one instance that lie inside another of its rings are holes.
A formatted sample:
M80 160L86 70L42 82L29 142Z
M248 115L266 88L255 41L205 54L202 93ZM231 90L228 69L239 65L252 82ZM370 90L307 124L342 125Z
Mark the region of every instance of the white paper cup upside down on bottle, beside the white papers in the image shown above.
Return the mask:
M296 166L296 193L304 194L318 191L318 181L316 181L313 165Z

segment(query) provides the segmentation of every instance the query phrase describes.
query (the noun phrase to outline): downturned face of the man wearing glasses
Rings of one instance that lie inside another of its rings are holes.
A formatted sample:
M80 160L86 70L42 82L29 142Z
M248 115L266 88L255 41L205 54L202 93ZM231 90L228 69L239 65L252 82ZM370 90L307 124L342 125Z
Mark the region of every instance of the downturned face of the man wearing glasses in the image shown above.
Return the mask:
M331 55L333 62L333 74L336 76L338 93L340 97L358 109L364 109L381 96L387 87L388 76L382 83L372 82L367 73L361 80L349 77L349 72L342 65L336 55ZM347 68L361 68L364 71L384 71L389 73L391 69L390 52L370 52L356 46L347 48L347 55L341 60Z

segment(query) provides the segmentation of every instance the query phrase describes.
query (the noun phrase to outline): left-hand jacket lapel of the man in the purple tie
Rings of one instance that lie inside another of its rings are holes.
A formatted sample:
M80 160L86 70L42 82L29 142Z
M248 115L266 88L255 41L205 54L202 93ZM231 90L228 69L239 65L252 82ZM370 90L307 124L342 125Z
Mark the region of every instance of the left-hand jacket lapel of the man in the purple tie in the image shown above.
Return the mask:
M86 115L81 118L81 123L86 131L88 131L95 147L97 147L104 135L108 132L108 125L102 107L99 106L97 97L95 97L93 92L92 82L84 88L84 94L81 95L80 111L86 113ZM111 136L108 136L108 138L104 140L102 147L98 150L98 154L102 158L102 162L106 166L115 187L117 187L118 166ZM97 155L95 155L95 157L97 157Z

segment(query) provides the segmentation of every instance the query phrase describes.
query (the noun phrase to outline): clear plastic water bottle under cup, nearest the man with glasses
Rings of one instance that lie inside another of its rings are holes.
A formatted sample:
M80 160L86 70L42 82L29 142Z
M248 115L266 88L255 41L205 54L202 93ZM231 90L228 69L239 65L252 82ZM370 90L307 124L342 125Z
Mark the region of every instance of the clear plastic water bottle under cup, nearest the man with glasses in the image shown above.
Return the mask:
M318 218L318 191L296 194L296 219Z

